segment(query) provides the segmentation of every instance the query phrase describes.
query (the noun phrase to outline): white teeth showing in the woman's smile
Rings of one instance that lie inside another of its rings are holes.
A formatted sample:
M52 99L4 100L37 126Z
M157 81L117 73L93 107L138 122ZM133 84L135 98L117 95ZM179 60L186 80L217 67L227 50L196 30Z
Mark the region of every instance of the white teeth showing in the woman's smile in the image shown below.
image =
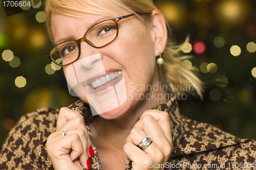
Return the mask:
M105 75L98 76L97 79L90 81L88 84L93 89L102 88L107 82L117 79L121 75L121 71L108 72Z

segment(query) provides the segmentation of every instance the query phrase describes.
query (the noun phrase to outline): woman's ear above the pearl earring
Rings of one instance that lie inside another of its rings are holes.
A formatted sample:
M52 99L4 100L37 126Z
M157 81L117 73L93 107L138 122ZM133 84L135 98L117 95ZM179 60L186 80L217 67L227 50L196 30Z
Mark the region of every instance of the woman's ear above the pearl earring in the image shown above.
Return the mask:
M166 43L167 43L167 29L165 24L165 19L163 15L157 11L152 11L152 38L154 42L155 56L159 56L163 53Z

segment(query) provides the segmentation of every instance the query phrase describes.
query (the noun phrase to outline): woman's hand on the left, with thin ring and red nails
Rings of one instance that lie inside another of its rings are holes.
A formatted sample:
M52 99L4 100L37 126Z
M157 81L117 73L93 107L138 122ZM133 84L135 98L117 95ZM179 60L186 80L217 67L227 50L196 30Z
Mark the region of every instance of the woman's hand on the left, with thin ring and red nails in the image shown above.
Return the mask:
M78 157L84 167L91 169L89 156L94 157L94 152L83 116L63 107L59 110L56 128L46 143L54 169L82 169ZM67 132L66 136L61 137L62 131Z

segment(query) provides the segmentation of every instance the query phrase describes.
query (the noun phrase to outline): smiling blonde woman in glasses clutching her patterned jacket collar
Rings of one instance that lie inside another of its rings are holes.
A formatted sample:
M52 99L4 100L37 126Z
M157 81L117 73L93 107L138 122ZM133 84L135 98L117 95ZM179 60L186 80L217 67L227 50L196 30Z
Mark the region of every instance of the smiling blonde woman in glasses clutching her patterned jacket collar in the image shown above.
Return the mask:
M180 48L170 48L151 1L48 0L46 14L55 44L47 57L63 66L81 100L20 118L3 145L1 169L255 167L254 140L179 114L179 91L170 87L192 85L201 96L202 85L174 57Z

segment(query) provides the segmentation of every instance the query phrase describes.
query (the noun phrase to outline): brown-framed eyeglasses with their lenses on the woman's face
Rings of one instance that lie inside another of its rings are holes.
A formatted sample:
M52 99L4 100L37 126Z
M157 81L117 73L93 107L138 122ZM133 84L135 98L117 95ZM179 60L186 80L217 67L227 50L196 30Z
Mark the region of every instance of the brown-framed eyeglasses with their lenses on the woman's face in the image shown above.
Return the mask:
M89 28L84 36L78 40L63 41L55 45L46 58L59 66L65 66L77 61L81 54L81 42L85 41L95 48L102 48L113 42L118 36L118 22L121 19L133 16L129 14L114 19L102 20Z

